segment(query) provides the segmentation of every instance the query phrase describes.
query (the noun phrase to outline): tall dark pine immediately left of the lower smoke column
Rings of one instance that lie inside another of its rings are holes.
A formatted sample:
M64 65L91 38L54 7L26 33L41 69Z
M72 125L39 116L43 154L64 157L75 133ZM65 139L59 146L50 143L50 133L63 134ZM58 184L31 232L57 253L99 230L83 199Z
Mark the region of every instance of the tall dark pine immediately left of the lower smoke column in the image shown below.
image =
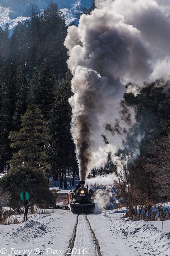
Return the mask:
M70 72L66 79L58 82L56 101L53 104L53 112L49 120L50 134L52 136L50 147L50 162L52 176L57 179L59 176L60 187L64 175L66 185L66 170L72 169L74 175L77 169L75 156L75 145L70 133L71 106L68 99L71 96Z

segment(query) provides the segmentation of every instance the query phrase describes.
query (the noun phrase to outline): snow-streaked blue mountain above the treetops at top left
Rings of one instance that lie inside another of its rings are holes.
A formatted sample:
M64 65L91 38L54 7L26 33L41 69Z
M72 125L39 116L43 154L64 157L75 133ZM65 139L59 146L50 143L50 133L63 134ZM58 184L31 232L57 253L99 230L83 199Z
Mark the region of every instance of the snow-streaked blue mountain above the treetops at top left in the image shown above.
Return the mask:
M66 25L74 22L78 23L82 14L82 8L89 8L93 0L54 0L61 10ZM30 4L38 8L39 13L46 9L50 0L0 0L0 26L4 29L6 23L9 24L10 34L18 21L29 18Z

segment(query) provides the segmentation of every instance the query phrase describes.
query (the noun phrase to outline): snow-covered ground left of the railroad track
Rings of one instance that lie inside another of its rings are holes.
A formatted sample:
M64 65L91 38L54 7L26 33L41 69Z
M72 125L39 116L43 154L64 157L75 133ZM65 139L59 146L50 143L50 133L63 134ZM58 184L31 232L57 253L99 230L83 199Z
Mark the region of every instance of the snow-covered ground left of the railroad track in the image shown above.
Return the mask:
M58 213L50 215L29 215L29 220L22 224L0 225L0 249L5 248L5 255L11 256L29 255L28 251L11 253L11 248L32 251L30 255L35 255L36 248L39 248L43 255L47 255L46 250L49 248L48 252L61 250L64 255L69 247L76 219L77 216L70 211L58 210Z

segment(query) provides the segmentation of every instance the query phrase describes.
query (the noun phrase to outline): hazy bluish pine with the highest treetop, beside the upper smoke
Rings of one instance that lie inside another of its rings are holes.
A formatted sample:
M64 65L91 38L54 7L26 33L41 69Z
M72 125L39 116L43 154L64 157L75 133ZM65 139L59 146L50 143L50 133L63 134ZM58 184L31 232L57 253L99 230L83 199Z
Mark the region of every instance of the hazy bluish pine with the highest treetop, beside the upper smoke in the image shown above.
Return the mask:
M56 3L49 4L43 15L43 31L46 38L44 53L46 64L54 69L57 78L64 78L67 72L67 50L63 45L67 34L65 21L60 15Z

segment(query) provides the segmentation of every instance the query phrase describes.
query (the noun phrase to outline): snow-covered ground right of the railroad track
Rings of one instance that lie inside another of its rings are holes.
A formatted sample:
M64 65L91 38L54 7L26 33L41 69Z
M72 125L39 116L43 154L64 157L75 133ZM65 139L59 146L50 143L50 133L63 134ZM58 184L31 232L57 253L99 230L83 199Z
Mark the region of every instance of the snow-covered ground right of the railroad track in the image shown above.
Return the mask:
M162 232L160 221L121 219L124 212L117 209L88 216L103 255L170 255L170 220L163 222Z

